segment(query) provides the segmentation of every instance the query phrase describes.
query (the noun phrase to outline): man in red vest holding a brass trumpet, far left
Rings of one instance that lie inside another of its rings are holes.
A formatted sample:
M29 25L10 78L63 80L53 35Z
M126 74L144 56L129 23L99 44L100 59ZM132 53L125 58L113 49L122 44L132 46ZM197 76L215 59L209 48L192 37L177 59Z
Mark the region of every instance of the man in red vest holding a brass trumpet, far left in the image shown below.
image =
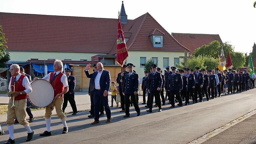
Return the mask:
M11 81L9 83L9 90L14 93L9 95L11 97L8 104L7 111L7 125L9 131L9 140L4 144L13 144L15 143L13 130L14 130L14 119L16 118L20 125L23 125L28 131L28 136L26 141L30 141L33 137L34 131L31 130L29 122L26 120L25 109L27 107L27 97L28 94L32 92L31 85L28 78L25 75L20 74L20 66L17 64L11 65L9 71L11 72ZM15 87L15 89L14 89ZM14 107L13 105L14 98Z

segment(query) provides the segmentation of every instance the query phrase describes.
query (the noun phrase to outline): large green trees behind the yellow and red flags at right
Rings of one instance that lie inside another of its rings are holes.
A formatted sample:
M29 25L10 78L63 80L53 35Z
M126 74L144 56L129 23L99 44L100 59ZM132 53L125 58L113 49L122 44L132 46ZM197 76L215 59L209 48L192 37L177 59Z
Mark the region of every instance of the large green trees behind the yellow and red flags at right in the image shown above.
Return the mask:
M209 45L203 45L200 48L196 49L193 55L196 57L199 55L203 55L203 56L207 55L217 59L221 52L221 47L223 48L223 52L225 56L227 56L227 52L229 51L230 57L232 59L233 66L235 69L244 67L245 58L246 58L244 54L240 52L235 52L232 48L232 45L228 44L227 42L220 45L219 41L214 40L210 42Z

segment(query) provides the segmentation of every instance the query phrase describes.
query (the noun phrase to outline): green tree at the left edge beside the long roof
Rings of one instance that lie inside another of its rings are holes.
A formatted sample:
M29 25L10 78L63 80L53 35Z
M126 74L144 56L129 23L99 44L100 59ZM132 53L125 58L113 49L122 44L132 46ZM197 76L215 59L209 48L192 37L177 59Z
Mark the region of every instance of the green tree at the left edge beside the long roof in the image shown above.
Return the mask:
M6 62L10 60L10 55L8 52L5 52L7 48L7 39L5 38L5 34L2 31L3 29L0 25L0 67L5 67Z

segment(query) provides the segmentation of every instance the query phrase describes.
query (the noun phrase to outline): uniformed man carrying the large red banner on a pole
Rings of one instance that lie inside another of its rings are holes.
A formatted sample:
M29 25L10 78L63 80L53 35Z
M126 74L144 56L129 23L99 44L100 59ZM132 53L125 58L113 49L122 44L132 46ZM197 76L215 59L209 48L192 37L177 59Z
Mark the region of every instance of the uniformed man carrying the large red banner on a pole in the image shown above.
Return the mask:
M124 102L124 95L122 93L123 89L123 81L124 81L124 75L127 74L127 66L124 64L122 67L122 72L117 74L116 82L118 83L118 91L120 92L120 98L121 98L121 108L122 110L120 112L125 112L125 102Z

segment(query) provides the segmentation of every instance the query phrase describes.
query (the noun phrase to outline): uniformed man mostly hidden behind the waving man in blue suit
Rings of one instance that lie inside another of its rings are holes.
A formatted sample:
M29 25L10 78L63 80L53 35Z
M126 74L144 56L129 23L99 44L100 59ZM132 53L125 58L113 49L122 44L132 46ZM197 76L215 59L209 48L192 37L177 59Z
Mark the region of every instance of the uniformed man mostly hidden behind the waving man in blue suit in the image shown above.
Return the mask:
M98 71L97 69L97 64L93 65L93 72ZM85 71L84 71L85 72ZM93 73L92 73L93 74ZM90 74L90 77L92 76L92 74ZM88 78L90 78L88 77ZM93 118L94 117L94 102L93 102L93 96L94 96L94 91L90 91L90 83L91 83L91 78L90 78L90 82L89 82L89 90L88 90L88 95L90 96L90 101L91 101L91 110L90 110L90 115L88 115L89 118ZM104 106L103 104L100 102L100 116L104 115Z

